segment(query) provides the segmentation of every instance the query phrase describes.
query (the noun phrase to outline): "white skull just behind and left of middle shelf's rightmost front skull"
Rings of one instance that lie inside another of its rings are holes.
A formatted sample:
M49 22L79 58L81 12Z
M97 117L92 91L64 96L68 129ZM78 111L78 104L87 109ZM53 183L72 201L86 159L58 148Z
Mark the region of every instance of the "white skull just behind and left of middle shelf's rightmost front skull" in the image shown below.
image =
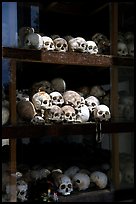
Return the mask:
M92 113L94 108L96 106L98 106L100 104L100 102L99 102L98 98L96 98L95 96L88 96L85 99L85 104L87 105L87 107L89 108L89 110Z

